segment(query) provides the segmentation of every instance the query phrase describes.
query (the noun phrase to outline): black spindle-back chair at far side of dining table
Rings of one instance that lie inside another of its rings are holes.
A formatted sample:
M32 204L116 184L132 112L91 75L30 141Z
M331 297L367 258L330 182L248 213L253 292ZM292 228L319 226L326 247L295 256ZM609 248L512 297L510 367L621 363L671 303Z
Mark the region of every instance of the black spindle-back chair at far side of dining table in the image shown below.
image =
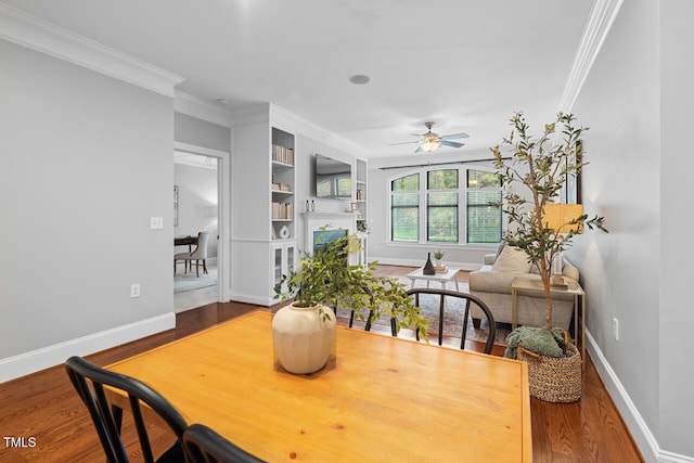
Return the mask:
M445 324L444 314L447 310L447 304L446 304L447 298L451 298L453 300L460 300L464 303L463 305L464 310L461 310L462 313L460 313L460 317L462 318L462 320L460 319L457 320L462 323L462 333L461 333L461 343L460 343L461 349L465 349L465 337L467 336L467 324L471 318L471 310L470 310L471 305L474 304L475 306L477 306L479 310L476 310L476 312L481 311L481 313L486 316L487 322L489 323L489 335L487 336L487 343L485 344L484 352L491 353L491 348L494 345L494 337L497 336L497 324L494 322L494 317L491 314L491 310L489 310L489 307L487 307L487 305L481 299L479 299L476 296L473 296L472 294L461 293L461 292L451 291L451 290L444 290L444 288L414 287L412 290L408 290L408 294L414 297L414 304L419 307L422 307L422 304L424 304L424 300L421 297L422 295L438 296L438 309L439 309L438 345L439 346L444 342L444 324ZM436 297L434 297L434 300L436 300ZM427 300L426 304L429 304L429 301ZM420 339L419 333L416 338L417 340Z

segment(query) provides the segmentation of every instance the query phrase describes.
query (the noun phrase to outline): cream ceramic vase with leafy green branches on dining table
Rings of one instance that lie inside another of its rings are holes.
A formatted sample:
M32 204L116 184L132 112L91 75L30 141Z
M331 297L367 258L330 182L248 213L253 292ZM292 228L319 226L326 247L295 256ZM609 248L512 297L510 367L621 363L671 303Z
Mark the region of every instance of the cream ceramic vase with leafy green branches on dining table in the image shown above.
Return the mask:
M412 327L426 338L428 322L401 283L375 275L376 262L349 265L349 255L360 247L354 235L319 243L316 252L303 254L295 270L282 275L275 298L293 303L278 310L272 332L278 360L285 370L312 373L325 365L339 308L354 311L361 321L394 319L397 330Z

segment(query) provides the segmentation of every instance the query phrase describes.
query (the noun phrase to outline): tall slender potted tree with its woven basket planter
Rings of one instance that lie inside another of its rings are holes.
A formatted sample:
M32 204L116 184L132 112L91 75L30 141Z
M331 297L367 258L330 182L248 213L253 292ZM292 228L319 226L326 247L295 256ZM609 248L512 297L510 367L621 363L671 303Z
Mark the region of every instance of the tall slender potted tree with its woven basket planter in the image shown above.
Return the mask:
M557 257L583 228L607 230L603 217L589 218L582 214L582 208L558 224L550 222L549 210L558 203L566 179L578 176L587 164L582 162L580 139L588 129L576 127L573 115L560 113L554 121L544 126L539 137L532 137L522 112L510 120L513 129L510 137L503 139L503 144L510 150L502 152L499 145L491 149L504 185L503 211L509 228L504 231L503 240L510 246L525 252L528 260L537 266L547 313L544 326L520 326L509 335L506 357L516 358L530 352L530 357L526 356L524 360L532 359L532 365L529 363L529 382L530 393L535 397L550 401L575 401L580 398L581 359L578 350L568 345L566 333L555 329L552 323L553 266L561 266ZM510 158L504 157L509 156L509 151ZM520 190L516 190L516 187L520 187ZM556 272L561 273L561 268ZM578 382L566 373L566 364L556 362L570 362L574 374L578 374ZM553 369L561 372L554 374ZM564 383L569 381L577 384L578 390L576 387L566 387Z

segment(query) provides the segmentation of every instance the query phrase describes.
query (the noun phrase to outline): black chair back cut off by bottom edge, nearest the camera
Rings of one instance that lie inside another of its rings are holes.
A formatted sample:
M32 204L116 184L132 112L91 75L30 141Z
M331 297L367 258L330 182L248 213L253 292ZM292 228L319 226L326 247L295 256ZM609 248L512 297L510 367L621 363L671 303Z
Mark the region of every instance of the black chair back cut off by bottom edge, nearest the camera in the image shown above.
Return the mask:
M193 424L185 429L183 448L190 455L192 463L265 462L203 424Z

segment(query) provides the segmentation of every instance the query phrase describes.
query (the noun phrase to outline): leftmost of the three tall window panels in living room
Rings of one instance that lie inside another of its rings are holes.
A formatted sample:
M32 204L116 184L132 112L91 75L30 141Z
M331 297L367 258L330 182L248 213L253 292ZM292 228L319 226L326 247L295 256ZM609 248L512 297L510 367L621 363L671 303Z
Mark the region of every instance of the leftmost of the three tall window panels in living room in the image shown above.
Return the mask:
M390 239L420 241L420 175L390 182Z

